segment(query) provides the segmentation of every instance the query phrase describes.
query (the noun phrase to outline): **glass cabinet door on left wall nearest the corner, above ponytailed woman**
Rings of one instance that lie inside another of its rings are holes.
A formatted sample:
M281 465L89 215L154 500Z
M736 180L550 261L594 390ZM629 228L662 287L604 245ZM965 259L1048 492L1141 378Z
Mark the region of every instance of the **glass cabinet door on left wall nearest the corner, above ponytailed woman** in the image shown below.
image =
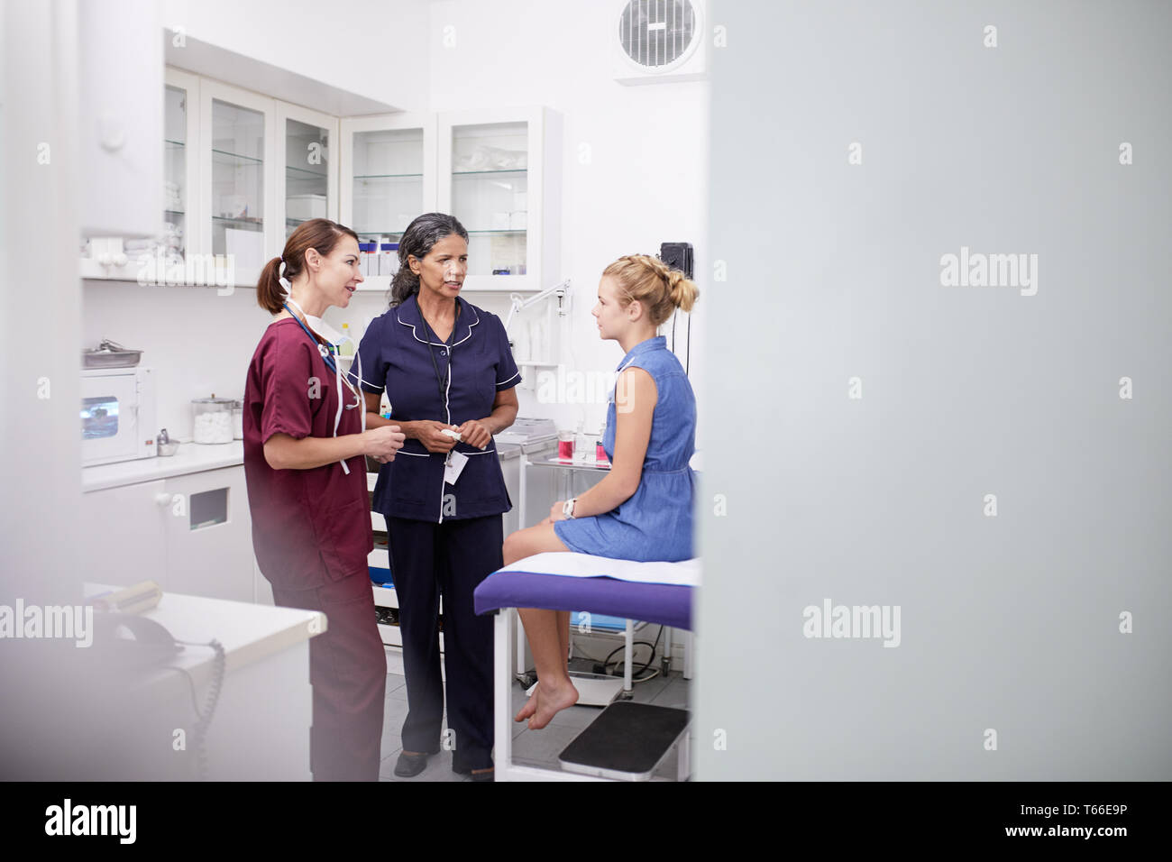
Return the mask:
M282 156L275 172L277 199L284 213L279 245L284 247L302 222L338 220L338 118L278 102L277 127Z

